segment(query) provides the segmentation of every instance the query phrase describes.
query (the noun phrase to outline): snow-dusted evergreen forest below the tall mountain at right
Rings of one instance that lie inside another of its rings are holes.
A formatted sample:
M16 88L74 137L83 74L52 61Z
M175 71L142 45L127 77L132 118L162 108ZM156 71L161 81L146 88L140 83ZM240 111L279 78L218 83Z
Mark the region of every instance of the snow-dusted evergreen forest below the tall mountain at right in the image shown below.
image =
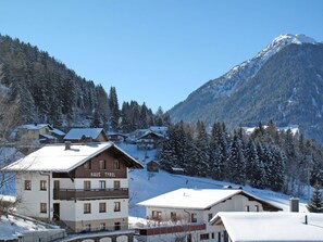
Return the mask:
M189 176L208 177L293 195L307 194L307 184L323 182L323 149L301 133L259 123L251 135L228 132L215 123L209 135L203 122L179 122L169 129L159 149L161 166L181 167Z

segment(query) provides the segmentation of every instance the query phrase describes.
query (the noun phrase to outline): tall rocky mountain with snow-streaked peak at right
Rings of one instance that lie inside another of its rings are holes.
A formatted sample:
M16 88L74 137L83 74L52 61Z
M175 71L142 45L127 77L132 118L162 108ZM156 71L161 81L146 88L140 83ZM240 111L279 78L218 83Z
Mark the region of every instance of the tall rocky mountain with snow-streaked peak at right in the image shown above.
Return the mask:
M323 43L305 35L281 35L254 58L212 79L169 111L173 122L228 128L274 120L298 125L323 142Z

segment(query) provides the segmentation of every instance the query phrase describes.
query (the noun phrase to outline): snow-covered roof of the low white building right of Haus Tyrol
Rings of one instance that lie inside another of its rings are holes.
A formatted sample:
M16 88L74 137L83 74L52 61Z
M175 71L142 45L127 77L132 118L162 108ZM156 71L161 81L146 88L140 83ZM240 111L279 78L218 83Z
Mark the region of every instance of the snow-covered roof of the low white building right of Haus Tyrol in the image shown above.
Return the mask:
M178 189L165 194L142 201L137 205L152 206L152 207L172 207L172 208L191 208L191 209L206 209L221 203L234 195L245 194L253 198L262 203L271 205L279 209L279 207L270 204L250 193L239 189Z

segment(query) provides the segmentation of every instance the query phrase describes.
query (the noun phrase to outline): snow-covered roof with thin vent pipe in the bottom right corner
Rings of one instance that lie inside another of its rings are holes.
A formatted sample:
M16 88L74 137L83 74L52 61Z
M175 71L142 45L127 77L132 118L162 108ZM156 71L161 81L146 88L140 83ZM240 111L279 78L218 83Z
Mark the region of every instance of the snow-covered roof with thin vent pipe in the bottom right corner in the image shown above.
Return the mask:
M323 241L323 214L223 212L211 224L223 224L233 242Z

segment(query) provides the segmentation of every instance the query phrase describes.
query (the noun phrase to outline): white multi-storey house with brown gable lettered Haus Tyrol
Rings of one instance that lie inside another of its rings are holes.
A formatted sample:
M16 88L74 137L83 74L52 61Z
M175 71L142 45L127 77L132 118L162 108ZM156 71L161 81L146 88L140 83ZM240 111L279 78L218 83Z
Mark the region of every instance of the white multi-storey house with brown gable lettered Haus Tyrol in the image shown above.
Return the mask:
M124 230L128 169L144 168L112 142L51 144L3 168L15 173L16 213L73 232Z

